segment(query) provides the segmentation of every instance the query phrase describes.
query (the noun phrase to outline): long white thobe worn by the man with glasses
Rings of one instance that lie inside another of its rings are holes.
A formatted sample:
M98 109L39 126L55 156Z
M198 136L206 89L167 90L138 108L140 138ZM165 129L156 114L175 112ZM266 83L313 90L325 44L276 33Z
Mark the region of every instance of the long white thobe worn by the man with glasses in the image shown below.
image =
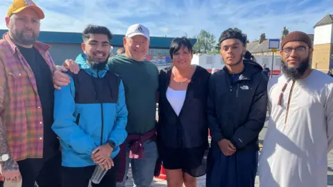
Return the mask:
M260 186L326 187L333 78L314 70L305 79L291 80L278 105L286 82L284 75L268 82L270 118L259 160Z

